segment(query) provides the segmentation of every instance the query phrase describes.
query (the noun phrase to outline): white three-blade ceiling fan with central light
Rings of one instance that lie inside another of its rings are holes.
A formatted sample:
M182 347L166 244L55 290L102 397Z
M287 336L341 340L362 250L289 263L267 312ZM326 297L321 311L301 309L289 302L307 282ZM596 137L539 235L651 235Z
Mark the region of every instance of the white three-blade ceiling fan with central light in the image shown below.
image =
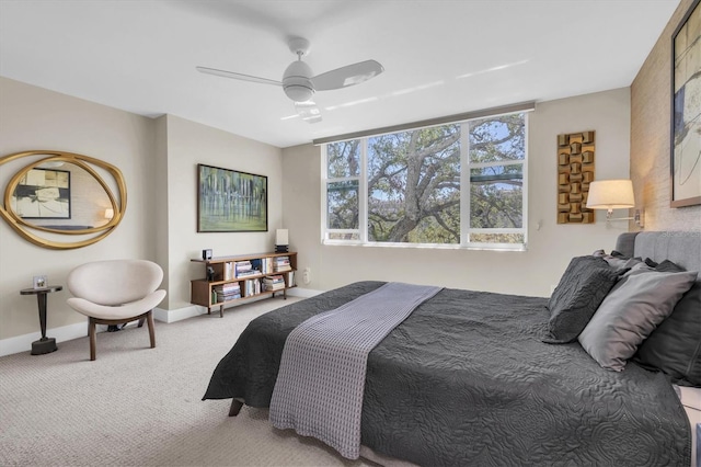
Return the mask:
M298 115L306 122L321 122L321 112L312 101L317 91L331 91L334 89L347 88L359 84L384 71L382 65L375 60L359 61L325 73L314 76L309 65L302 61L302 57L309 54L309 41L302 37L292 37L289 41L289 49L297 55L297 60L292 61L281 81L267 78L258 78L250 75L237 73L233 71L218 70L215 68L196 67L197 71L208 75L216 75L225 78L233 78L243 81L260 82L263 84L274 84L283 87L285 94L295 102Z

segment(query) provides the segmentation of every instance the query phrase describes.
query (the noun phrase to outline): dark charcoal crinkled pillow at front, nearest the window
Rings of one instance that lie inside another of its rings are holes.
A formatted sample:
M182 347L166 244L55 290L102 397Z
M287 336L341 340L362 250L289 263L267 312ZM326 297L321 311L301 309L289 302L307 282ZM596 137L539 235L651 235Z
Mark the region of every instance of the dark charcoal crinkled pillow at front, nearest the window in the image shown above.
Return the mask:
M577 339L618 277L619 271L601 258L573 258L548 303L550 335L543 342L565 344Z

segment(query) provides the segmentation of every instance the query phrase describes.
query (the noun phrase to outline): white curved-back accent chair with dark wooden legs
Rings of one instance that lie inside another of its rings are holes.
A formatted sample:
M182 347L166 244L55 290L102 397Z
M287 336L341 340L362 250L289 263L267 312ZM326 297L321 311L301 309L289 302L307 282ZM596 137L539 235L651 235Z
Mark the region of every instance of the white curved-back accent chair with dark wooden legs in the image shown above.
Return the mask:
M90 360L95 360L95 324L148 322L151 349L156 346L151 311L165 297L157 288L163 281L163 270L146 260L94 261L73 269L68 274L68 289L74 297L68 305L85 315L90 335Z

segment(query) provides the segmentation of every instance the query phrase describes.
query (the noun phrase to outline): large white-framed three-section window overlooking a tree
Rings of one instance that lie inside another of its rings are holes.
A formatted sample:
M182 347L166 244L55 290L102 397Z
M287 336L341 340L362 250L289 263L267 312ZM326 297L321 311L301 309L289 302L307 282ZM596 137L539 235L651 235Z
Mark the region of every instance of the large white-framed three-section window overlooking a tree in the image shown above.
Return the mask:
M522 249L526 113L324 145L325 243Z

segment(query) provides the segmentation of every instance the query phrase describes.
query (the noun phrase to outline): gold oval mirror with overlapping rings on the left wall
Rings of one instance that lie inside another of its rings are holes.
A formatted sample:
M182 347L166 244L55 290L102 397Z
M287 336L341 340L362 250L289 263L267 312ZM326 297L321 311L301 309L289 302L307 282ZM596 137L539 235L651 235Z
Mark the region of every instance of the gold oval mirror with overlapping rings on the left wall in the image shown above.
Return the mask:
M21 158L31 162L8 183L0 215L24 239L51 249L80 248L102 240L122 220L126 185L116 167L64 151L16 152L0 166Z

